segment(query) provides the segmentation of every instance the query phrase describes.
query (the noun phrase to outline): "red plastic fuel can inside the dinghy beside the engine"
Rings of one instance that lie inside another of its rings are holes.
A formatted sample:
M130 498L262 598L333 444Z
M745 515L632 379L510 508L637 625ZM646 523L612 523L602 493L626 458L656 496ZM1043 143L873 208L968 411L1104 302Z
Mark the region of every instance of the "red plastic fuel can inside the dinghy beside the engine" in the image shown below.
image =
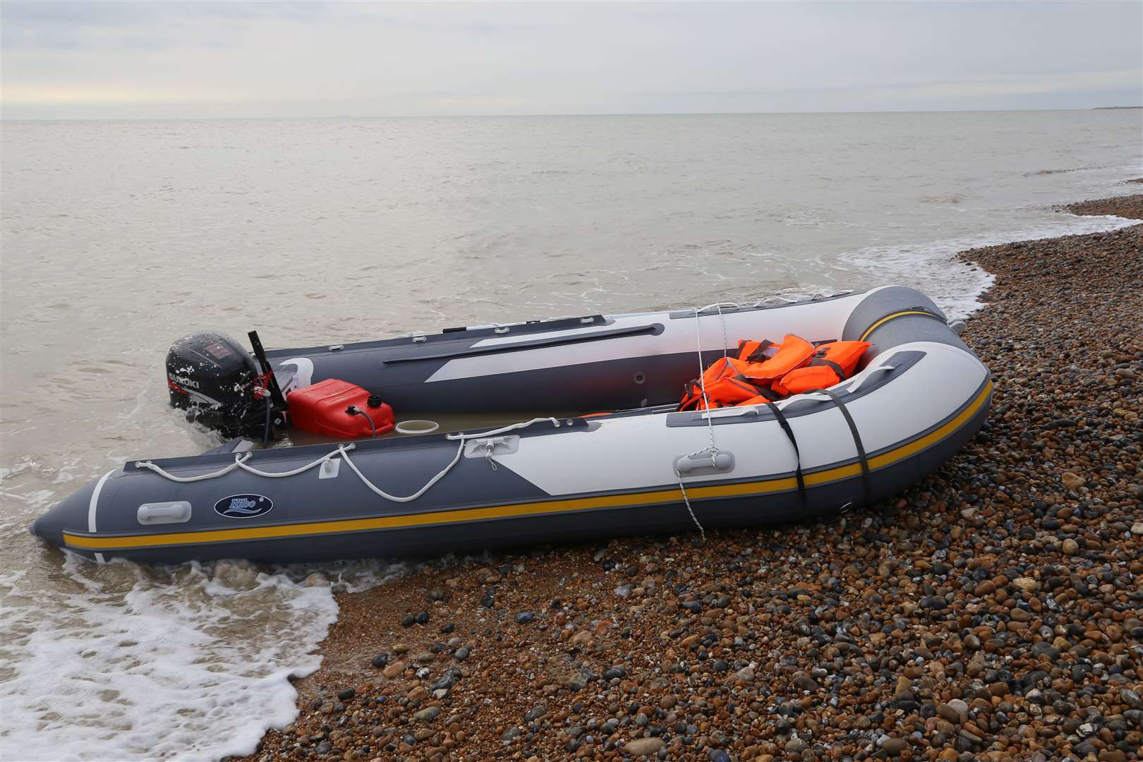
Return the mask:
M303 431L334 439L361 439L371 436L374 427L378 434L384 434L393 427L393 409L373 398L374 407L369 407L370 394L357 384L327 378L312 386L290 392L286 398L290 425ZM373 419L362 415L350 415L346 409L357 407Z

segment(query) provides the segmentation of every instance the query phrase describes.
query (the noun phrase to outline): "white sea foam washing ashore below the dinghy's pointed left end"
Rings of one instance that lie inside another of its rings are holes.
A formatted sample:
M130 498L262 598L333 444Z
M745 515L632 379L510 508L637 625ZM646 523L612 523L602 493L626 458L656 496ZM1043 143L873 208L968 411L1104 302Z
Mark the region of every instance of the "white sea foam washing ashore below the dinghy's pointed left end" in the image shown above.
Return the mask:
M246 563L151 570L70 556L62 572L49 589L23 572L0 579L3 759L250 753L296 716L289 677L318 668L337 617L328 584Z

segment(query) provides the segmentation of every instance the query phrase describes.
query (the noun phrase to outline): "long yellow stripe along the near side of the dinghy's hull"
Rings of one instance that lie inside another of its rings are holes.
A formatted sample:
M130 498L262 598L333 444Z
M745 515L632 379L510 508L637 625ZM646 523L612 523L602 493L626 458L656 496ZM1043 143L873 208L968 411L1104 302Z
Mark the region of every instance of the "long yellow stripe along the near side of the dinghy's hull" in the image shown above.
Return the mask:
M886 319L888 320L888 318ZM876 326L874 326L876 327ZM976 411L981 409L992 392L992 382L957 417L940 428L919 439L903 444L888 452L869 459L870 470L884 468L903 460L925 448L950 436L964 426ZM824 484L839 481L861 473L860 464L838 466L813 474L806 474L806 486ZM687 494L692 499L713 497L743 497L781 492L797 488L792 476L768 479L740 484L712 484L710 487L692 487ZM520 503L514 505L497 505L483 508L459 508L454 511L433 511L400 516L378 516L371 519L342 519L337 521L312 521L299 524L281 524L277 527L249 527L242 529L210 529L205 531L167 532L162 535L137 535L120 537L91 537L64 532L64 543L69 547L82 551L131 550L139 547L165 547L173 545L197 545L202 543L232 543L253 539L283 539L289 537L306 537L311 535L329 535L338 532L358 532L375 529L403 529L409 527L426 527L431 524L459 523L467 521L485 521L489 519L515 519L545 513L567 513L573 511L591 511L594 508L634 507L655 503L681 502L682 494L678 489L656 490L653 492L636 492L629 495L606 495L599 497L581 497L572 499L543 500L537 503Z

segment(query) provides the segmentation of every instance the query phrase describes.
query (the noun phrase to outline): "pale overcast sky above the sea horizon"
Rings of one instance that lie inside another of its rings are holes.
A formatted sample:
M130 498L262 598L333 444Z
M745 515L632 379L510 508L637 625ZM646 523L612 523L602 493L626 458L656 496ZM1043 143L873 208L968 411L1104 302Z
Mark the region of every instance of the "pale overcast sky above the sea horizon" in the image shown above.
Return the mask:
M1143 3L9 2L6 119L1089 109Z

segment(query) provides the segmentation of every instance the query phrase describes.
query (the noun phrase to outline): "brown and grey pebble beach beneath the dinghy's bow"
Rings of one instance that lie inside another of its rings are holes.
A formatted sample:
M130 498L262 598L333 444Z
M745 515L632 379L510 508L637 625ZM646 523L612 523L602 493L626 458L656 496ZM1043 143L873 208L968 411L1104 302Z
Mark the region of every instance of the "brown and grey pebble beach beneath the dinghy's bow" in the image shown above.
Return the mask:
M1061 214L1143 219L1143 194ZM996 392L935 474L338 593L296 721L245 759L1138 759L1143 224L959 256L996 278L964 335Z

